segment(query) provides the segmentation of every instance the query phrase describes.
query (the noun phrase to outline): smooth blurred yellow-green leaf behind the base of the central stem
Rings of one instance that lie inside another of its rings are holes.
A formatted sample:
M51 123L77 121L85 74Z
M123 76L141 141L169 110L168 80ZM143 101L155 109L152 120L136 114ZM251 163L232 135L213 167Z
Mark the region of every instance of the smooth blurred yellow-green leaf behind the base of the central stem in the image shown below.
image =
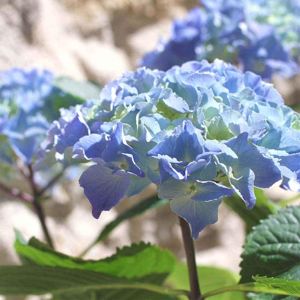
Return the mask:
M197 266L199 285L201 293L206 293L223 286L231 286L238 283L240 276L231 271L215 268ZM167 277L166 284L178 289L190 289L188 270L185 263L178 262L174 271ZM182 299L187 299L185 296L180 296ZM211 296L209 300L242 300L245 299L245 293L241 291L228 291L219 295Z

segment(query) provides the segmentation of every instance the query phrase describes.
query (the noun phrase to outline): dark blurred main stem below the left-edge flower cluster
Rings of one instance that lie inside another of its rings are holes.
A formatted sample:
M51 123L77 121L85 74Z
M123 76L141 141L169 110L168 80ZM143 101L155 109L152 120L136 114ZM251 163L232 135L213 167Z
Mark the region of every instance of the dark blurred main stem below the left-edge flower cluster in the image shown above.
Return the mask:
M46 241L49 244L49 246L51 246L53 248L52 239L51 239L51 237L49 235L49 231L48 231L46 223L45 223L44 210L43 210L41 204L39 203L39 196L40 196L40 194L38 193L36 184L35 184L34 179L33 179L32 166L29 165L28 169L29 169L29 183L30 183L30 186L32 188L33 199L34 199L33 202L32 202L32 205L35 208L35 211L36 211L36 213L38 215L38 218L40 220L40 223L41 223L41 226L42 226L42 229L43 229Z

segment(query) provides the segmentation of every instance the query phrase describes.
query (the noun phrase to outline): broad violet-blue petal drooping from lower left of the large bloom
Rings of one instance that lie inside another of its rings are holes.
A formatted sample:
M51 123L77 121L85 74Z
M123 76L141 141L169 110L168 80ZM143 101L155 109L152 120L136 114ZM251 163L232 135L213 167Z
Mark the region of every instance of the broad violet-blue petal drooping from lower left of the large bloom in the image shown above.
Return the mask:
M112 170L102 165L93 165L79 178L79 185L92 205L93 217L98 219L104 210L110 210L125 196L129 176L112 175Z

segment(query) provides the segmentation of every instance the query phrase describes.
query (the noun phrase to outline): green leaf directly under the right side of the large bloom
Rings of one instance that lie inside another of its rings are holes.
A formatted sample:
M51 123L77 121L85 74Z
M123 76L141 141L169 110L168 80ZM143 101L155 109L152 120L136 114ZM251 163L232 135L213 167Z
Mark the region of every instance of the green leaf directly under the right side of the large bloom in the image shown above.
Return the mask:
M277 212L276 205L268 199L263 190L254 187L254 193L256 202L251 210L246 208L244 201L237 194L222 198L223 202L245 221L247 233L252 230L253 226L258 225L260 220L267 218L269 214Z

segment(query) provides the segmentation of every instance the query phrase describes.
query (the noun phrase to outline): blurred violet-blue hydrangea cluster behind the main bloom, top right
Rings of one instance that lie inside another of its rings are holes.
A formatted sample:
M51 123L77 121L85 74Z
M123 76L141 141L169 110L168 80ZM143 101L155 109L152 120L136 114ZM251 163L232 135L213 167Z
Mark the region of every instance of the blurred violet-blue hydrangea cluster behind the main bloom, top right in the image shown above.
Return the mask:
M169 41L138 61L151 69L168 70L189 60L221 58L252 71L264 80L274 72L298 72L300 4L294 0L200 1L185 19L173 22Z

